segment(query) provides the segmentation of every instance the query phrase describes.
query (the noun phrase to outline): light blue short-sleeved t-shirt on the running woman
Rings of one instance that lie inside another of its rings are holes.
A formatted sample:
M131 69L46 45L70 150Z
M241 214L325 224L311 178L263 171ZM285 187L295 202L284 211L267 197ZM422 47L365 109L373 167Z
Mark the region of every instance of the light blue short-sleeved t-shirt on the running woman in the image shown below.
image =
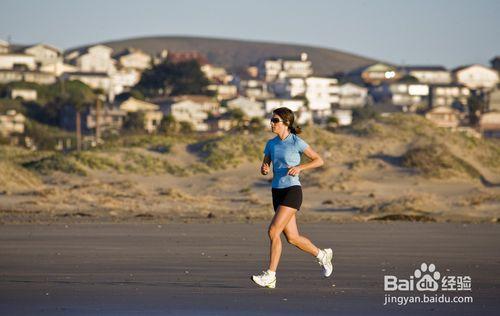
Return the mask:
M285 139L279 136L267 141L264 155L273 163L273 188L288 188L300 185L299 176L288 175L288 169L300 164L300 155L309 146L302 138L290 133Z

